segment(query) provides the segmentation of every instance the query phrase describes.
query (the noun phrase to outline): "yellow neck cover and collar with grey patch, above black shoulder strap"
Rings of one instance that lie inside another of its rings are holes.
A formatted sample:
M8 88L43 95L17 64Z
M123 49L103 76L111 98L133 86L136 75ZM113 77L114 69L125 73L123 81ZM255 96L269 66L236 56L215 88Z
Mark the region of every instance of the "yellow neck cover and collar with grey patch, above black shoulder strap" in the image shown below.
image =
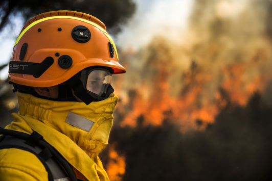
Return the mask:
M108 180L98 153L108 143L112 113L118 101L115 94L89 105L19 92L17 95L19 113L12 114L14 120L6 128L29 134L38 132L88 180Z

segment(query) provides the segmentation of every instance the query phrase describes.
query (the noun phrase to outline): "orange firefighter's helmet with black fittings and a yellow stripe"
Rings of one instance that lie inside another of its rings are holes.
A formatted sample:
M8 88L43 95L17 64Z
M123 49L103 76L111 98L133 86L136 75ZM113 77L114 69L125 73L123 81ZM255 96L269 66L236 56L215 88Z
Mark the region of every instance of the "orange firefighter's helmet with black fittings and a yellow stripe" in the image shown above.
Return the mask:
M22 28L13 48L9 81L51 87L90 66L126 72L105 24L81 12L51 11L31 18Z

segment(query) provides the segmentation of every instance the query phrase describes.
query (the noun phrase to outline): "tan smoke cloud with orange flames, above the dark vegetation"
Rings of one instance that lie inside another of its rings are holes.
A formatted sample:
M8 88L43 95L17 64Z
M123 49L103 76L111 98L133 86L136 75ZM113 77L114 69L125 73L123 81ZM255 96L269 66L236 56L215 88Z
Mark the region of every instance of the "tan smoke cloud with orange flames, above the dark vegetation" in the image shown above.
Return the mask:
M272 79L270 5L195 1L188 30L176 37L185 43L166 34L138 51L123 51L129 74L117 88L121 125L133 126L141 115L158 125L171 116L188 130L197 127L196 119L212 123L228 102L245 105L262 92Z

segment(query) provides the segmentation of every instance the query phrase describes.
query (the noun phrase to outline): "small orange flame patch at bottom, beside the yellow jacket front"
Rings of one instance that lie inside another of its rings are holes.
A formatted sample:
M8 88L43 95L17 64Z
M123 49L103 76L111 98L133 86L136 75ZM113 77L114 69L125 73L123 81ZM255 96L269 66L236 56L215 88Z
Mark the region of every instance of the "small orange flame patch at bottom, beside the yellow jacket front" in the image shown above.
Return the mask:
M119 181L125 173L125 157L120 156L113 146L109 148L109 163L107 165L107 173L112 181Z

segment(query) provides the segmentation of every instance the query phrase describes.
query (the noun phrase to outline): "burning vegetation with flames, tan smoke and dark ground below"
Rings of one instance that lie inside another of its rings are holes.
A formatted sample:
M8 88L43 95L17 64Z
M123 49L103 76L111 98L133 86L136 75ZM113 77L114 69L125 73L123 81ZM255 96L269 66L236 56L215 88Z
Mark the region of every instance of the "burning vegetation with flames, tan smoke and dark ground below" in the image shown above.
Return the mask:
M271 17L268 0L196 0L185 44L123 52L114 180L270 179Z

